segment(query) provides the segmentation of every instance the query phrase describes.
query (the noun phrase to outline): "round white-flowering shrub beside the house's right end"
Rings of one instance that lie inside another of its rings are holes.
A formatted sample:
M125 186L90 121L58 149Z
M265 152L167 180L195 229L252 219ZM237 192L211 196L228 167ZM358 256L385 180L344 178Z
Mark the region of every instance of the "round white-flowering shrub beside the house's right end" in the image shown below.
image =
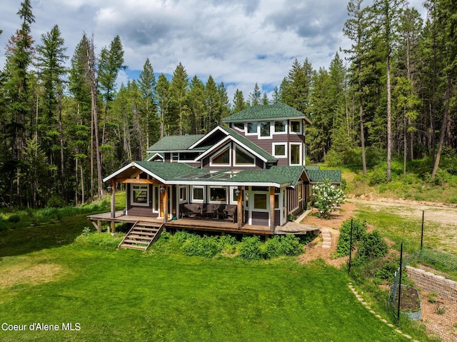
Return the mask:
M333 186L328 179L323 181L323 183L317 183L313 186L313 193L311 193L311 206L317 208L319 211L318 216L328 217L328 213L336 210L336 206L343 201L343 190Z

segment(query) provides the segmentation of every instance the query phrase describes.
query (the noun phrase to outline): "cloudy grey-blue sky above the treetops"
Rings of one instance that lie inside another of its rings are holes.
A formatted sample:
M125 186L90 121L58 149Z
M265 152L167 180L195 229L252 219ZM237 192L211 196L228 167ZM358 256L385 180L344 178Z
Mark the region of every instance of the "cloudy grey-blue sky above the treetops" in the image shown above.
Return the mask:
M20 0L4 0L0 11L0 68L4 47L19 28ZM366 5L371 1L366 1ZM421 13L423 0L411 0ZM71 57L84 32L94 34L96 51L121 37L129 69L119 84L139 74L147 58L157 75L173 74L181 62L189 78L224 81L233 99L245 98L258 83L268 93L279 86L294 59L328 68L350 42L342 29L345 0L31 0L32 35L59 25Z

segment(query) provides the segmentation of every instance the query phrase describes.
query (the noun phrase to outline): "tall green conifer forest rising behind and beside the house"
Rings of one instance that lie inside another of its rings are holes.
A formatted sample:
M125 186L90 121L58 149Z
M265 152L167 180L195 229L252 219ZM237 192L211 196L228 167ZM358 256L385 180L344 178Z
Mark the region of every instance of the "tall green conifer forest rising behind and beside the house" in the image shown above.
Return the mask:
M316 70L296 60L270 97L256 84L230 101L223 82L191 78L181 63L167 78L146 59L139 79L119 86L119 36L97 54L84 34L69 56L58 26L34 40L24 0L0 71L0 206L84 203L103 194L103 176L144 159L162 136L204 134L246 106L277 102L313 121L311 161L366 173L382 154L390 178L393 156L431 157L433 177L441 154L456 154L457 3L424 6L425 22L406 0L351 0L346 61L337 53Z

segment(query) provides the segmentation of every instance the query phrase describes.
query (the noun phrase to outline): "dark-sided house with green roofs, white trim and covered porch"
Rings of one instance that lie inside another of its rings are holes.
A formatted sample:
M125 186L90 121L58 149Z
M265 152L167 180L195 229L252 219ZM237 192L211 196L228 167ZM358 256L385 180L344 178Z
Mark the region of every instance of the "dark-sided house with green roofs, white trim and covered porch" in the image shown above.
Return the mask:
M111 213L89 218L97 228L100 221L149 220L169 228L285 233L289 216L306 207L312 183L341 181L341 171L305 166L311 121L286 104L252 106L224 123L204 135L165 136L144 161L107 176ZM126 184L121 213L114 209L116 183Z

